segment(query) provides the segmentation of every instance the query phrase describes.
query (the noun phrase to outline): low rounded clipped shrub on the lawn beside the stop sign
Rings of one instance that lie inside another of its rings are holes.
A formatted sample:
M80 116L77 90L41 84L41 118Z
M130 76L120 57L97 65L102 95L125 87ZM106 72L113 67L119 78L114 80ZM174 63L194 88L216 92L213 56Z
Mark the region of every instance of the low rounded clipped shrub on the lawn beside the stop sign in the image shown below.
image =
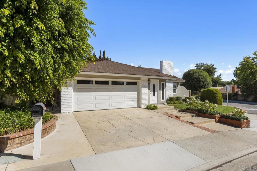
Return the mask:
M217 105L222 105L222 94L218 89L205 89L201 92L201 101L209 100Z

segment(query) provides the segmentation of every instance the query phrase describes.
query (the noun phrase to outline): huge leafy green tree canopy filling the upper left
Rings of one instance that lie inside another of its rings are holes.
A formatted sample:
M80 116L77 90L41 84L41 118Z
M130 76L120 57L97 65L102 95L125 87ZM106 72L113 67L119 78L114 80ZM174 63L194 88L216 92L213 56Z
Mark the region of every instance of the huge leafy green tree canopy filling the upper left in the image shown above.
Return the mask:
M0 99L44 102L93 61L83 0L0 1Z

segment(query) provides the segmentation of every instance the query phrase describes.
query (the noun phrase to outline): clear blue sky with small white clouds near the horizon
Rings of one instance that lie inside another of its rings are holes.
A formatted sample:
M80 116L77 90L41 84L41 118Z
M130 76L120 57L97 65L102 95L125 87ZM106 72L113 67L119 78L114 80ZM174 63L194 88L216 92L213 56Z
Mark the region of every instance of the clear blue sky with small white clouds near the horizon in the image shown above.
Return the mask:
M86 2L96 33L89 43L116 62L159 68L159 61L172 61L180 78L196 63L213 63L227 81L257 50L256 0Z

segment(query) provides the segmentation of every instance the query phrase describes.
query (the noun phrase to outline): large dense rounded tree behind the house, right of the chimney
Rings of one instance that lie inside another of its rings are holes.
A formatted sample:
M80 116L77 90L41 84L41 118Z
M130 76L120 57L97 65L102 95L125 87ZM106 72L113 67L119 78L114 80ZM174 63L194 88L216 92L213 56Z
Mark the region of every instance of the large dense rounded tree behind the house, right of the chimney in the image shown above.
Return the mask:
M190 69L183 74L182 79L185 80L182 85L191 91L201 91L201 89L212 87L211 77L203 70Z

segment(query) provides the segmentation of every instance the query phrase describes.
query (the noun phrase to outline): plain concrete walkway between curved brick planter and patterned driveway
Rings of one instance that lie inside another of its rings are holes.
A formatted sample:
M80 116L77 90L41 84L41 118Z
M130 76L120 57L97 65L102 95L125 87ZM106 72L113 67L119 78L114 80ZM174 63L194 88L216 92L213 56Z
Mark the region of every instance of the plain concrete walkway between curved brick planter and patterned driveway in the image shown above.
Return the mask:
M40 159L32 160L33 143L28 144L6 151L6 153L22 154L25 158L16 163L0 165L1 171L19 170L95 154L72 113L55 115L58 116L56 129L42 138Z

